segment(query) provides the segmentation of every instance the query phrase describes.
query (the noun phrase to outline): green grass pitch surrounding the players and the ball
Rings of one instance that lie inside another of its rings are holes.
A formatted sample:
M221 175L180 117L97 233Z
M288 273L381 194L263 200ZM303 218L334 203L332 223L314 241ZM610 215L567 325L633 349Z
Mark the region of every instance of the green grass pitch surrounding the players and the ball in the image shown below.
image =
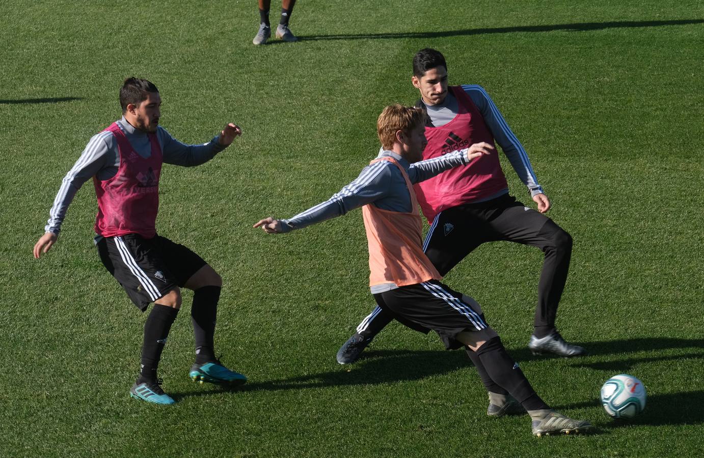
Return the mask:
M704 4L302 0L301 41L255 47L255 3L3 3L0 455L704 454ZM484 245L446 283L483 305L539 394L596 434L534 438L527 416L486 417L464 352L399 325L340 366L335 352L373 305L360 211L286 236L251 227L356 177L379 148L382 108L416 100L410 62L427 46L451 84L493 96L574 237L558 326L591 355L526 349L539 250ZM146 315L96 255L90 183L56 246L31 255L63 175L120 116L132 75L159 87L178 139L208 141L228 121L244 132L206 165L165 167L158 230L222 274L216 343L249 383L188 379L185 292L160 367L170 407L128 396ZM598 390L622 372L646 384L648 407L617 423Z

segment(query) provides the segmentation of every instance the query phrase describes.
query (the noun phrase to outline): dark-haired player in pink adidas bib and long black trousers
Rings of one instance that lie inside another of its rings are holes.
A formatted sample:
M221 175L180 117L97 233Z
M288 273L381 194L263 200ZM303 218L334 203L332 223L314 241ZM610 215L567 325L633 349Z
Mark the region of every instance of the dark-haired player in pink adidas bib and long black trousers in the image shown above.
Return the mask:
M536 354L584 355L584 348L566 343L555 329L558 303L570 267L572 237L543 215L551 203L538 184L522 145L482 87L448 87L447 64L439 51L422 49L415 54L412 82L421 96L416 106L427 113L428 145L423 158L438 158L479 141L491 145L496 141L538 206L538 211L532 210L509 195L497 155L482 156L470 165L448 170L415 185L423 215L431 223L423 244L425 254L445 275L485 242L503 240L540 248L545 260L528 347ZM337 352L337 361L355 362L392 320L382 307L375 307ZM470 357L477 362L472 353ZM485 378L481 371L479 374Z

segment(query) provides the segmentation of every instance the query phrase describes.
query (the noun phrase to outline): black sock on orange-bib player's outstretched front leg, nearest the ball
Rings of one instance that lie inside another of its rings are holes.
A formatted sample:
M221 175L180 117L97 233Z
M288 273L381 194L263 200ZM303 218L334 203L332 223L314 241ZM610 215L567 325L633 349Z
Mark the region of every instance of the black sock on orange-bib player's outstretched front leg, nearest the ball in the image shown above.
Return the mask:
M498 386L504 388L521 403L526 410L549 409L548 405L536 394L530 386L523 371L506 352L501 338L494 337L486 341L477 350L479 360L484 364L489 374Z

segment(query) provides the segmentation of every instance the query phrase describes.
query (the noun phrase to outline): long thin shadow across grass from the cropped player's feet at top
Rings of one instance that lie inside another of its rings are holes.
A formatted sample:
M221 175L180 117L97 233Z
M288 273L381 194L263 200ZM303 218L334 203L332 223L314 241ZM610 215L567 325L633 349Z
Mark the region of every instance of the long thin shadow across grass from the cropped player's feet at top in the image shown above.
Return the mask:
M555 25L519 25L514 27L487 27L479 29L446 30L444 32L389 32L370 34L334 34L334 35L298 35L301 40L346 40L346 39L396 39L396 38L440 38L463 37L467 35L482 35L514 32L586 32L588 30L617 29L624 27L663 27L667 25L703 24L704 19L677 20L621 20L608 23L574 23Z

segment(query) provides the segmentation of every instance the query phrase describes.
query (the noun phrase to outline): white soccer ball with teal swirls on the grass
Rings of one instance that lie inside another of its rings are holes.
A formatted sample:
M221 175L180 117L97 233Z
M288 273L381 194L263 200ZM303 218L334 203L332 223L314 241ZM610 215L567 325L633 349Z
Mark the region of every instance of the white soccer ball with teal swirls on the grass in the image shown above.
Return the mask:
M646 387L628 374L612 376L601 387L601 405L614 418L631 419L646 408Z

